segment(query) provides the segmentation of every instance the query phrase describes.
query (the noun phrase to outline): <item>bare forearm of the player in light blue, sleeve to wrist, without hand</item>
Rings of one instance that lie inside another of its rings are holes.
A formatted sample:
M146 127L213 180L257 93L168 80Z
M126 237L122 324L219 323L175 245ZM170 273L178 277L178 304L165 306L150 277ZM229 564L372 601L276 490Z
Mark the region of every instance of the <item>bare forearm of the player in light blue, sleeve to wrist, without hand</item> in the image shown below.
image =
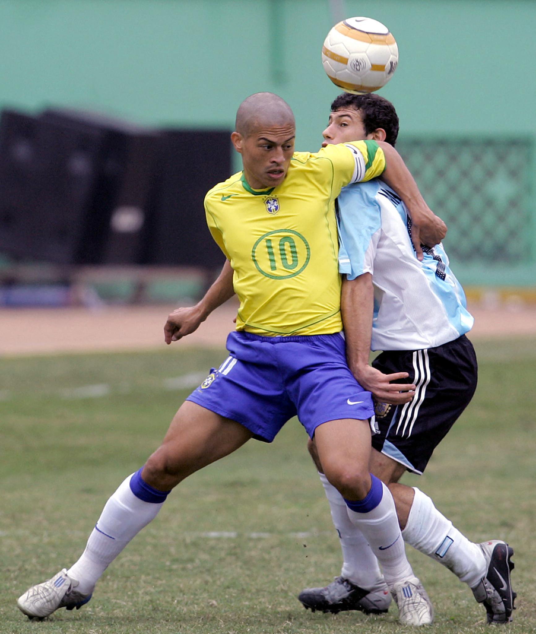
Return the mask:
M369 365L371 352L374 288L370 273L343 280L341 313L348 367L357 377L360 369Z

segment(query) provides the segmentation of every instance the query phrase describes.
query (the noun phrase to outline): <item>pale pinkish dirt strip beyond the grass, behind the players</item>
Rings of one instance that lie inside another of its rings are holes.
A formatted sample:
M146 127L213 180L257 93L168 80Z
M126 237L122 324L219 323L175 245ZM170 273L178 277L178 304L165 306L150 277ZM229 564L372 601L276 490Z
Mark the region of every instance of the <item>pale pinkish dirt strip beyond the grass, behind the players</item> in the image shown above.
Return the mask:
M172 346L225 345L234 328L236 302L215 311L198 330ZM0 354L4 356L165 347L163 325L175 306L4 309ZM471 339L536 337L536 307L469 306L475 316Z

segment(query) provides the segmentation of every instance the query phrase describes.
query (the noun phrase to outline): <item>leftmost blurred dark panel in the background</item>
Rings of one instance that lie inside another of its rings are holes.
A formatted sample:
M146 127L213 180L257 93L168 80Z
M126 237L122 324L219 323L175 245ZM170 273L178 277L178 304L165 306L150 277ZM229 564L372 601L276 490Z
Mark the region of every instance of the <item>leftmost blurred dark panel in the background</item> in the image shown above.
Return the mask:
M0 119L0 250L21 259L80 261L103 134L65 134L54 122Z

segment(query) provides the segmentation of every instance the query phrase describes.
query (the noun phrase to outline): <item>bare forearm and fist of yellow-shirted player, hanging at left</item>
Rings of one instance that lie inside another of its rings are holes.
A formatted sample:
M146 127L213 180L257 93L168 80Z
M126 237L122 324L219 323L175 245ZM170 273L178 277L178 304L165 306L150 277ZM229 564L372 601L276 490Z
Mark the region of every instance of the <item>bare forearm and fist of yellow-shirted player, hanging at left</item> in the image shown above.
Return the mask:
M205 296L195 306L177 308L169 314L164 326L164 340L167 344L191 334L205 321L210 313L234 295L233 269L226 260L220 275L207 290Z

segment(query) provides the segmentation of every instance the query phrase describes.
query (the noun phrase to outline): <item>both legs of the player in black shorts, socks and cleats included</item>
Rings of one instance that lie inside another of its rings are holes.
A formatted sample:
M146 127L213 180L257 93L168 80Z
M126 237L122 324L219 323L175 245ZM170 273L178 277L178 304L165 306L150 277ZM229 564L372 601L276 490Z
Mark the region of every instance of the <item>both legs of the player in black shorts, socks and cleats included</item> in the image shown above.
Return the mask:
M326 496L331 507L331 515L338 533L341 536L341 548L343 552L343 568L341 577L337 578L331 586L337 588L340 605L331 605L329 611L340 609L358 609L362 611L374 611L367 609L371 605L367 597L380 602L381 595L374 592L366 597L361 597L362 588L378 588L381 584L381 573L377 564L371 560L371 549L362 539L359 531L354 526L345 523L345 518L337 511L343 500L337 491L322 477L322 465L314 443L309 443L309 451L321 474L322 484L326 489ZM490 541L475 544L452 526L433 505L431 499L417 488L405 486L399 483L400 477L405 472L404 465L392 460L389 456L379 451L371 451L371 472L381 481L388 484L393 500L397 507L397 516L404 541L432 559L449 568L464 583L467 583L476 600L482 602L488 614L490 623L506 623L511 620L511 611L516 593L511 590L510 572L514 565L510 557L513 550L501 541ZM492 564L499 567L504 584L495 583ZM343 587L344 585L344 587ZM330 586L327 586L329 588ZM320 605L324 605L323 594L326 588L311 588L318 597ZM500 591L500 592L499 592ZM332 590L332 593L335 589ZM301 595L300 595L301 596ZM309 597L314 604L312 595ZM322 609L322 607L319 607ZM376 610L379 612L380 610Z

